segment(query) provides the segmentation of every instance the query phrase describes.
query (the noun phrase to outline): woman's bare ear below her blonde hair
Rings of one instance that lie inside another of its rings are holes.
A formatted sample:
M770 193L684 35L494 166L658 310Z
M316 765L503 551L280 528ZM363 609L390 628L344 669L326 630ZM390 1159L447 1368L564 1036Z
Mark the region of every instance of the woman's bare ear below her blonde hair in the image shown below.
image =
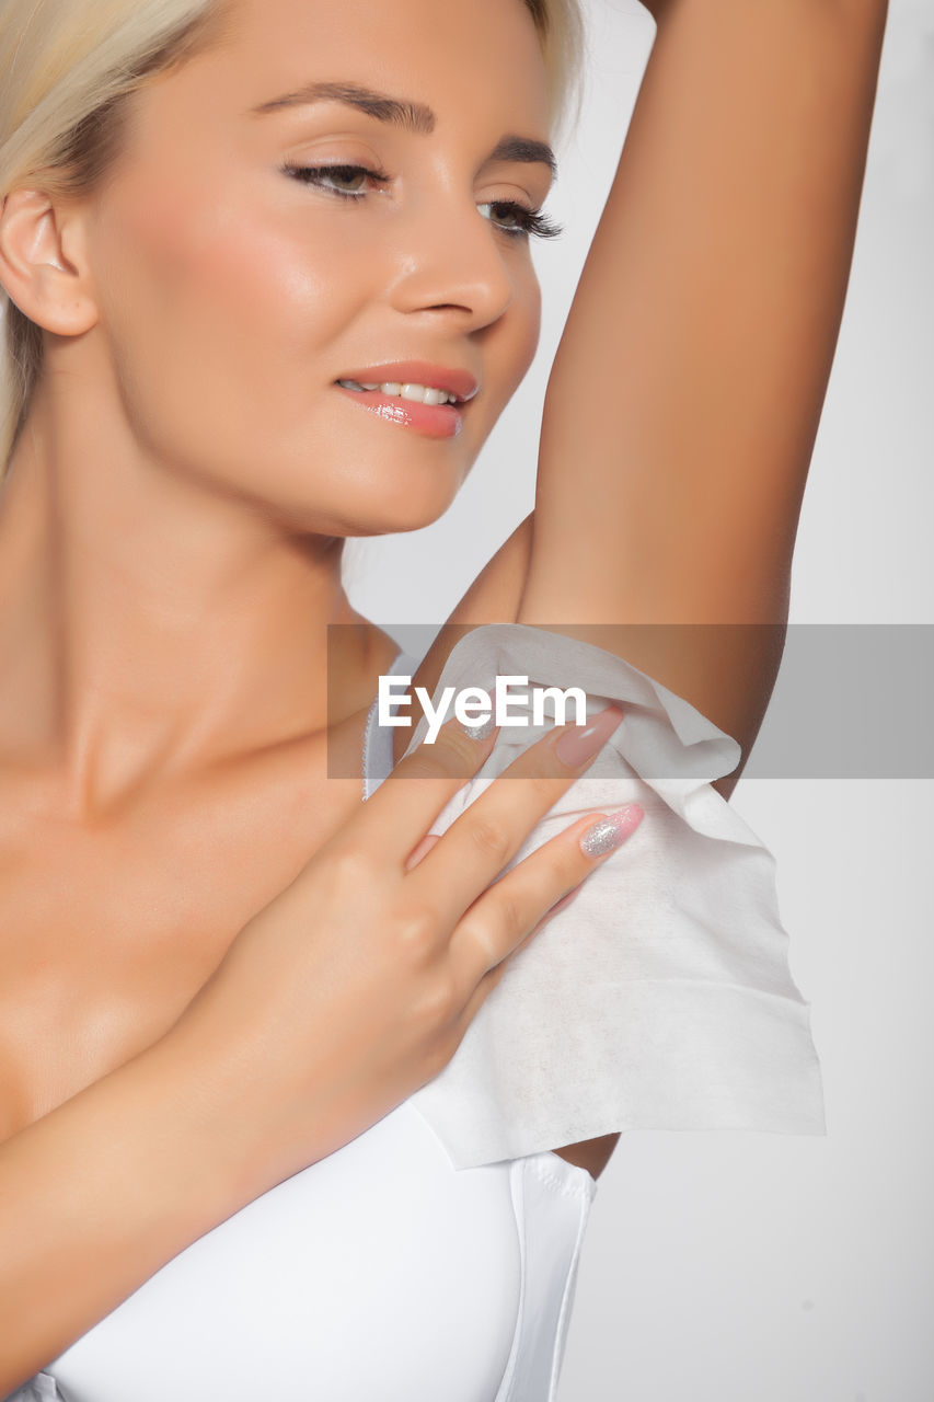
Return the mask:
M77 336L97 322L80 255L77 212L38 189L14 189L0 205L0 283L46 331Z

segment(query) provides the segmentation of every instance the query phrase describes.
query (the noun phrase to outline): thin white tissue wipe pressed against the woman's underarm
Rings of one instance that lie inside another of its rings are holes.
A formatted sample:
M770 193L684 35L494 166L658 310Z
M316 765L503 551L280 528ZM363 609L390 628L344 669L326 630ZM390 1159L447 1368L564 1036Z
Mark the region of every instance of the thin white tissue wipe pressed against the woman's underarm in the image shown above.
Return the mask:
M610 701L624 711L505 871L583 813L635 799L645 817L510 960L453 1060L411 1096L454 1166L617 1130L825 1134L811 1005L788 969L776 861L711 788L739 763L738 743L616 653L522 624L461 638L433 704L447 686L492 693L496 676L581 687L588 715ZM522 709L513 691L510 712ZM530 704L524 712L529 726L499 730L431 833L445 833L554 725L532 725ZM422 718L407 753L425 730ZM393 730L379 733L391 746Z

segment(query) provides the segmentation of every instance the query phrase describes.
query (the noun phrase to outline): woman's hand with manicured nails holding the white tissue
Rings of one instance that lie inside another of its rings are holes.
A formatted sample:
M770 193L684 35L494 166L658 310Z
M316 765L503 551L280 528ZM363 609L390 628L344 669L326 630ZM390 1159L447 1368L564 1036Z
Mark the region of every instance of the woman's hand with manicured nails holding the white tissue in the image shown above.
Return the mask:
M346 1144L432 1080L509 959L607 859L609 851L581 847L582 834L606 823L590 813L501 875L621 719L609 707L586 730L555 726L442 837L426 840L494 744L447 722L233 941L170 1036L209 1019L212 1036L243 1046L244 1075L264 1080L264 1103L268 1089L276 1180ZM572 763L562 756L568 740L578 747ZM642 810L623 812L628 836Z

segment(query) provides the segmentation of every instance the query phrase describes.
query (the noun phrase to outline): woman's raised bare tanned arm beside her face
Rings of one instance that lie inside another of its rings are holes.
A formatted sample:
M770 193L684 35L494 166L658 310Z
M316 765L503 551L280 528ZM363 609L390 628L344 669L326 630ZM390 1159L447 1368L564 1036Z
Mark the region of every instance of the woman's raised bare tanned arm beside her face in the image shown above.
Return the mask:
M655 46L548 381L517 621L721 625L604 645L746 754L781 659L886 0L651 8Z

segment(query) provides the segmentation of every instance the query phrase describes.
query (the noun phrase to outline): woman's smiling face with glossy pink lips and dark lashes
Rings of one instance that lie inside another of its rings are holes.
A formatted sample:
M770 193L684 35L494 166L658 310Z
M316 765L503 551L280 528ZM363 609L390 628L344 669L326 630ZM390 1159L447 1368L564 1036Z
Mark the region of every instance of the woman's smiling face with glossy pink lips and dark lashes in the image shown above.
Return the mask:
M537 345L515 233L551 184L529 144L548 136L532 18L522 0L236 0L231 17L135 95L87 203L115 404L161 467L300 531L424 526ZM526 146L496 154L503 137ZM386 369L402 362L422 365ZM419 425L411 401L337 383L367 372L478 390Z

